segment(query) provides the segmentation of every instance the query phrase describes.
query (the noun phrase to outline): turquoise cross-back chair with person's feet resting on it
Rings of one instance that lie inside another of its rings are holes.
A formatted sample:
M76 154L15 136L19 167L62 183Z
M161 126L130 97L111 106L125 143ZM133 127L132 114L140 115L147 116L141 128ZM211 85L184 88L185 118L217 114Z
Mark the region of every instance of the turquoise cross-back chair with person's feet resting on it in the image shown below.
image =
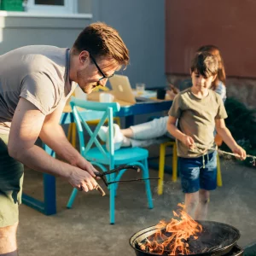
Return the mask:
M133 165L139 166L142 170L143 178L147 179L148 174L148 150L145 148L120 148L119 150L113 150L113 113L119 111L119 103L103 103L103 102L86 102L83 100L76 99L75 97L71 98L70 102L74 120L76 123L77 131L79 134L79 144L80 144L80 154L86 160L89 160L90 163L94 166L98 166L102 169L102 172L107 172L108 169L112 170L115 167L121 165ZM99 123L96 125L95 131L91 131L90 126L86 123L84 117L79 113L78 108L85 108L88 110L87 116L98 116L99 112L102 113L102 118L99 120ZM95 114L91 114L95 113ZM109 152L106 149L105 145L102 145L97 138L97 133L100 130L100 127L108 119L108 136L109 136ZM84 132L87 132L90 135L90 140L84 145ZM108 166L108 169L106 168ZM107 181L119 181L122 175L126 170L122 170L117 175L112 173L107 175ZM145 183L146 194L148 197L148 208L152 209L153 201L150 189L149 180L143 181ZM118 188L117 183L112 183L108 186L109 189L109 201L110 201L110 224L114 224L114 200L116 195L116 190ZM73 189L72 195L67 202L67 208L73 206L73 201L78 193L78 189Z

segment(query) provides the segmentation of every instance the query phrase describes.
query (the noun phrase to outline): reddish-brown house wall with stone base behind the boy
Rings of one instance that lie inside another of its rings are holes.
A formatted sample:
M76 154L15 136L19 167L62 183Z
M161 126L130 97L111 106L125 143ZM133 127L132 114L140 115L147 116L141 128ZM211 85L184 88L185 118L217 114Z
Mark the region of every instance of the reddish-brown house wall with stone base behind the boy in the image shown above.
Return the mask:
M251 0L166 0L167 78L177 83L189 74L198 47L218 45L228 76L228 96L255 108L255 9Z

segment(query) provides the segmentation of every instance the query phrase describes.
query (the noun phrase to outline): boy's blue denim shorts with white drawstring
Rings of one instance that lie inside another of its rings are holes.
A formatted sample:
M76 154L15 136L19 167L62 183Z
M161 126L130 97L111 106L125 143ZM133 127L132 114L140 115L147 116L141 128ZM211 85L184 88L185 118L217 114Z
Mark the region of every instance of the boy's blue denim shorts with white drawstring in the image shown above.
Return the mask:
M199 189L214 190L217 187L216 152L196 158L178 158L184 193L194 193Z

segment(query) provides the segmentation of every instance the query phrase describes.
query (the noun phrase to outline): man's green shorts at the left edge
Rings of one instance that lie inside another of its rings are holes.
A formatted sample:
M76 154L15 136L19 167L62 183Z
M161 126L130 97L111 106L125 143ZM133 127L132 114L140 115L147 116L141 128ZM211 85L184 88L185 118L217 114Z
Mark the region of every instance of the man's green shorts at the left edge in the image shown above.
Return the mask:
M24 166L8 154L9 135L0 134L0 228L19 220Z

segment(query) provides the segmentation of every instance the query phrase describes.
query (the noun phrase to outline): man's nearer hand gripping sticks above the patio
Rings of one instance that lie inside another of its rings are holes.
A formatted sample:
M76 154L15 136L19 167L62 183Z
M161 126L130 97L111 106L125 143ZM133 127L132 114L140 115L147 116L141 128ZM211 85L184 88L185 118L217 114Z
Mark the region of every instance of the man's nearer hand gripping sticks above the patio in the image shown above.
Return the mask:
M85 192L88 192L89 190L92 189L96 189L97 186L94 177L92 177L90 173L84 172L84 170L78 167L73 167L73 172L67 178L67 181L71 183L74 188L84 190Z

